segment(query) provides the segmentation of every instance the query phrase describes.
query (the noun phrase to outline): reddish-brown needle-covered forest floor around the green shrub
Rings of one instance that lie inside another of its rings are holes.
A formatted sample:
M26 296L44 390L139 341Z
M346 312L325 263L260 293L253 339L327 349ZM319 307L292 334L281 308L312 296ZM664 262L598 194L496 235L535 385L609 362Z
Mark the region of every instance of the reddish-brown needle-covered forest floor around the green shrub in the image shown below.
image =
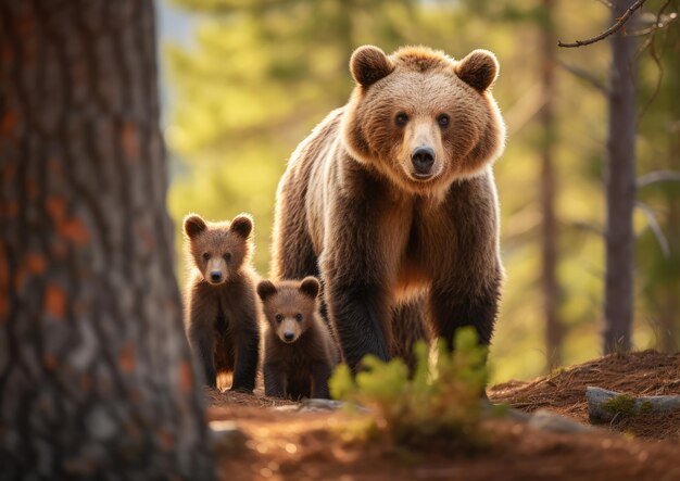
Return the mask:
M493 403L547 409L588 423L585 387L634 395L680 394L680 354L616 354L533 381L487 390ZM209 419L232 421L244 435L219 454L224 480L680 480L680 412L641 415L584 432L538 430L509 418L482 429L489 447L444 456L399 452L349 440L343 412L298 412L295 403L207 392Z

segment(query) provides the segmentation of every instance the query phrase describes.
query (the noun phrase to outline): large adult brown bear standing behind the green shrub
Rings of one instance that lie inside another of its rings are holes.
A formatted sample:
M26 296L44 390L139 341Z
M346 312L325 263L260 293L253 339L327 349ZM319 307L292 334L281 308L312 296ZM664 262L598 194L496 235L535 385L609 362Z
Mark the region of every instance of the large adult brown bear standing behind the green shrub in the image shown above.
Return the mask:
M394 337L392 324L419 316L450 346L466 325L489 343L503 278L495 56L455 61L423 47L388 56L365 46L350 68L349 103L298 147L279 183L272 276L320 277L354 370L369 353L406 355L403 326ZM433 160L425 177L421 148Z

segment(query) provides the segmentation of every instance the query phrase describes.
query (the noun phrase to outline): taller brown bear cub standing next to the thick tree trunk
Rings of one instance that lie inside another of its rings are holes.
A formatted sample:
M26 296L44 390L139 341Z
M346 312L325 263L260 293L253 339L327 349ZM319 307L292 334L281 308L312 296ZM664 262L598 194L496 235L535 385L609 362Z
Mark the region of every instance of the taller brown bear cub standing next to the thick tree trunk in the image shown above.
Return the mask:
M260 359L257 276L251 266L253 220L185 217L186 254L191 269L185 299L185 328L209 385L217 374L232 374L232 391L252 391Z

